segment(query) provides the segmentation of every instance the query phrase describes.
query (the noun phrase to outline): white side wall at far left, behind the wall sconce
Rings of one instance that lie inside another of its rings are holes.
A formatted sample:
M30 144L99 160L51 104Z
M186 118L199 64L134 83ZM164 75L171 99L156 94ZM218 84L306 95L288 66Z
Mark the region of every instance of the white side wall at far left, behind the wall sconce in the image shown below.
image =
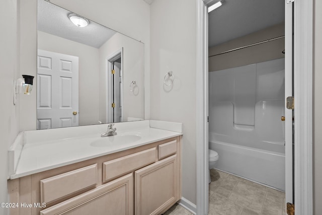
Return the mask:
M19 6L17 1L0 2L0 202L8 202L8 148L19 132L20 102L14 106L13 82L19 77ZM7 214L6 208L0 207L0 214Z

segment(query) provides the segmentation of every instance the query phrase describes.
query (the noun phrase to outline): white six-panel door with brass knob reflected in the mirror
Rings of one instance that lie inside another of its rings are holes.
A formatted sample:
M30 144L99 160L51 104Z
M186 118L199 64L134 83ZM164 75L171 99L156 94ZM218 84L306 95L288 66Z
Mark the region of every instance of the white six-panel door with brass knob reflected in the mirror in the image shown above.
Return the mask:
M78 57L38 49L37 129L78 125Z

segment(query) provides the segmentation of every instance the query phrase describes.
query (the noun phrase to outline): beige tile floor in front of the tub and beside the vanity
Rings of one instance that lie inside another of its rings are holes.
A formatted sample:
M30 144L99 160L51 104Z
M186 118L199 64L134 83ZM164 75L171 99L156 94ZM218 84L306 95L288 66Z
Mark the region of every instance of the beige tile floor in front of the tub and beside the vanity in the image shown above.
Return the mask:
M208 215L285 215L285 193L239 178L211 170ZM164 215L192 214L175 204Z

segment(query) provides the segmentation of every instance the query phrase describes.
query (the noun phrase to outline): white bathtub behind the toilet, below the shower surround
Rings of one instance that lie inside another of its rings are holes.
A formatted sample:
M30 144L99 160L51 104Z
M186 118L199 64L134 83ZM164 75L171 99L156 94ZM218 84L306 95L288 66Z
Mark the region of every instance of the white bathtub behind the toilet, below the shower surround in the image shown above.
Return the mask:
M285 154L276 152L279 149L273 152L211 140L209 149L219 155L215 168L285 191Z

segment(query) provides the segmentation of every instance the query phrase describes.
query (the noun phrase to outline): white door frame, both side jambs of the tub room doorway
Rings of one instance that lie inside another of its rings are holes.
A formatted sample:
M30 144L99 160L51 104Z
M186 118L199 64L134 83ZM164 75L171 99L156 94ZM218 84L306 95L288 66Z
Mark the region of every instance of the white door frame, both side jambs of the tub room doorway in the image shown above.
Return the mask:
M208 14L216 0L197 0L196 164L197 214L207 214L208 182ZM286 0L285 0L286 1ZM313 0L294 4L294 178L296 213L313 213L312 195L312 50Z

